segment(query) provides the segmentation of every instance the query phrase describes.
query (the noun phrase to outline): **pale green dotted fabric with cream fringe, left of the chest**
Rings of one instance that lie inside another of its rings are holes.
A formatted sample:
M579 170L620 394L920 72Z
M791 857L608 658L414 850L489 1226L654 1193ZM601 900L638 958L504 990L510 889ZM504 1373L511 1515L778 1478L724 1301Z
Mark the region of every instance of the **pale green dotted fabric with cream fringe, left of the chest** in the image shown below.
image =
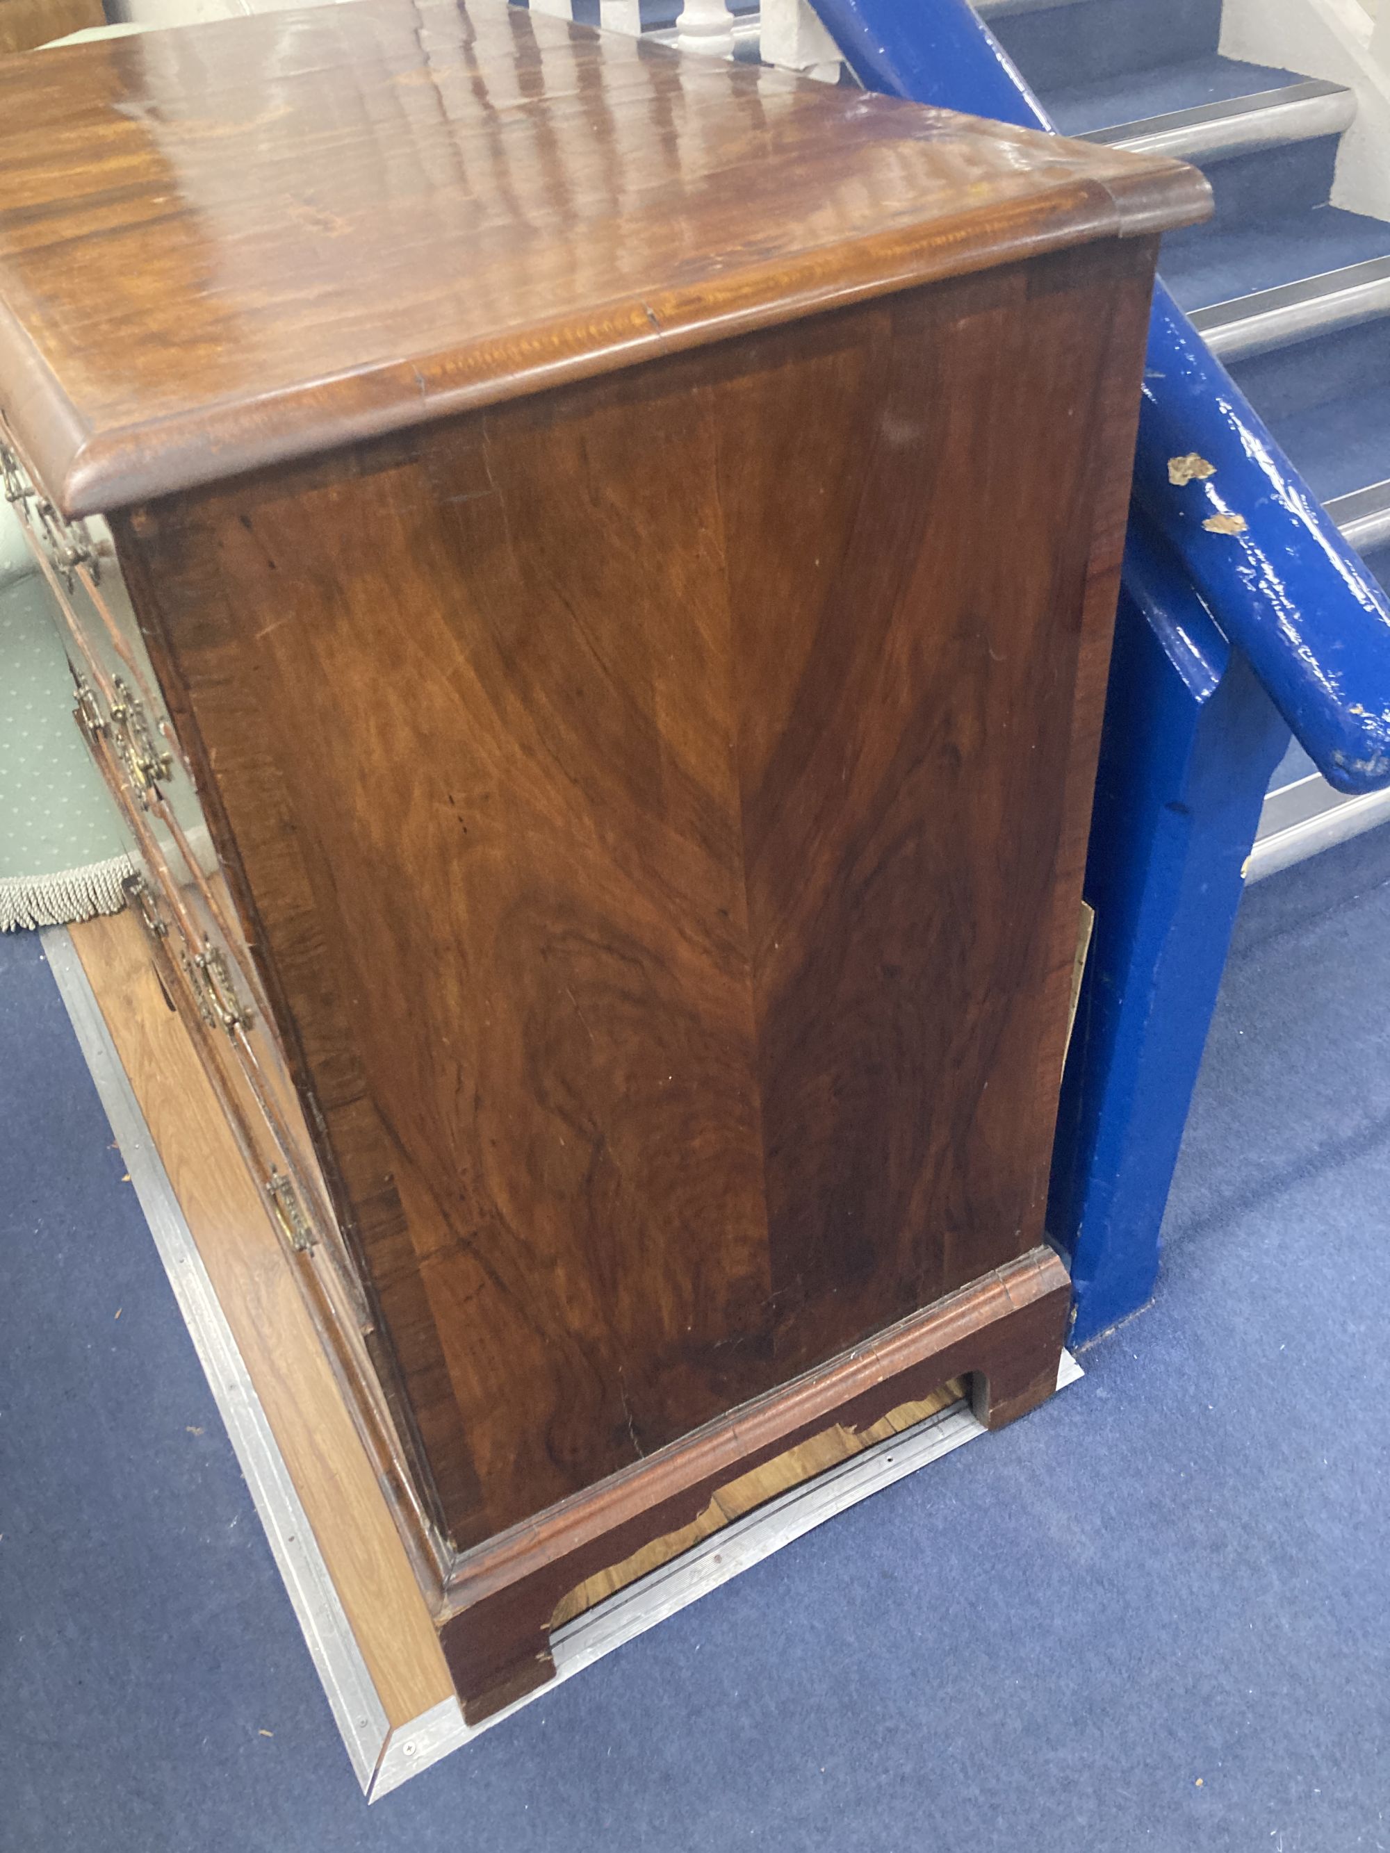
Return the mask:
M0 930L124 904L120 819L72 721L52 593L0 502Z

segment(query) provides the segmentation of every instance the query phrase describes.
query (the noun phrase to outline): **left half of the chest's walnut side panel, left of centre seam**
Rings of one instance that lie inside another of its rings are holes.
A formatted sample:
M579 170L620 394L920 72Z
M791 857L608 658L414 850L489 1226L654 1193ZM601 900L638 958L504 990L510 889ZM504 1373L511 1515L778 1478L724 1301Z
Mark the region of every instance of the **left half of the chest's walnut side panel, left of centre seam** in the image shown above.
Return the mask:
M460 1544L767 1384L714 456L600 393L143 543Z

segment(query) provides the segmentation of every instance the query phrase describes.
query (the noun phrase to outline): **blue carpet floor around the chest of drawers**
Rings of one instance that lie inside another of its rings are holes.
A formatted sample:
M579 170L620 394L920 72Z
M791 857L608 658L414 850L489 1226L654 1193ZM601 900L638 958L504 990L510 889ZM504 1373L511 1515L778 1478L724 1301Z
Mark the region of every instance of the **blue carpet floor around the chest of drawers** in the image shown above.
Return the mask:
M1247 897L1084 1382L371 1810L24 936L0 1036L4 1853L1390 1846L1390 832Z

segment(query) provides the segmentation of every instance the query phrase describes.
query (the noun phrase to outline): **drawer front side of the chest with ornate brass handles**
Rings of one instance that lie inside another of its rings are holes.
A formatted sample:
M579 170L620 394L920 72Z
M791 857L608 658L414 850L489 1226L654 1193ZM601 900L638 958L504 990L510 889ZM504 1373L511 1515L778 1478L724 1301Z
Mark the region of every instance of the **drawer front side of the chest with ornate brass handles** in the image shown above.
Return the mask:
M74 678L74 717L128 832L126 884L150 958L183 1019L246 1169L295 1262L348 1408L428 1584L436 1519L421 1503L410 1414L317 1164L284 1051L241 932L187 756L163 704L111 534L63 521L0 419L0 478L54 595Z

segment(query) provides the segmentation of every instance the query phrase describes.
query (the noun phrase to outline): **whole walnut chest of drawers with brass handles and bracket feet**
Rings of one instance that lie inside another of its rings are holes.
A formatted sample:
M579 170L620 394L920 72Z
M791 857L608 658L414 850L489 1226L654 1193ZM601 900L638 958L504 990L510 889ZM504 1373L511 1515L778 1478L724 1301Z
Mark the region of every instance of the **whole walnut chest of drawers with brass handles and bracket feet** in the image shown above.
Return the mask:
M1053 1386L1175 163L500 0L0 61L6 487L469 1718L732 1477Z

